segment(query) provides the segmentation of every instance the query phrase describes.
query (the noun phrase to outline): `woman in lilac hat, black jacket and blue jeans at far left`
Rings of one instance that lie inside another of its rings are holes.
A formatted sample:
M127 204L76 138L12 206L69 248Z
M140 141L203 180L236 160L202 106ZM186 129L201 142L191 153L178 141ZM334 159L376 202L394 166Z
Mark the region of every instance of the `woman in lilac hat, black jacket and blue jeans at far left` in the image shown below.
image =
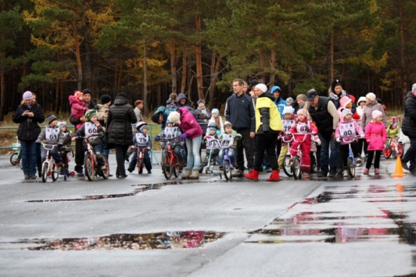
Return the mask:
M23 100L12 116L14 123L19 123L17 138L21 145L21 166L24 179L36 179L36 139L40 134L39 123L44 122L42 108L33 100L31 91L23 93Z

